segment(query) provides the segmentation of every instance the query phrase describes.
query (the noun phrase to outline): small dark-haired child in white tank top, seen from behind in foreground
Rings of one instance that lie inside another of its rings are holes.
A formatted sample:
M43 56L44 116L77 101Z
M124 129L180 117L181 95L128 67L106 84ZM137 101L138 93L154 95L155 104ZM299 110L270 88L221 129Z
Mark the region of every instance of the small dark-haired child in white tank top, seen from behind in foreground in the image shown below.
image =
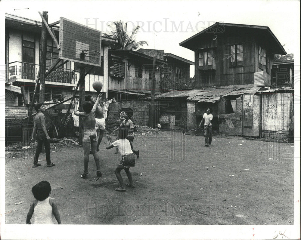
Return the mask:
M33 204L30 206L26 224L31 224L31 217L34 215L35 224L53 224L53 216L58 224L61 224L60 214L57 210L57 204L54 198L49 195L51 193L50 183L42 181L33 186L31 189L33 196Z

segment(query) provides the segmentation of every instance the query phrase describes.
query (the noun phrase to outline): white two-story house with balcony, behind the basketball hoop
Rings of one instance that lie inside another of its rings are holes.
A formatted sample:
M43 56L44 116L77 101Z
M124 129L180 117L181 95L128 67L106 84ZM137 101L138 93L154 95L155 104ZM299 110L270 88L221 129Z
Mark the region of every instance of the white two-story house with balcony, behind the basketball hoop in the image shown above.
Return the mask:
M59 26L52 26L59 39ZM40 38L42 22L24 17L5 14L5 106L6 132L14 129L13 136L20 135L20 123L27 116L24 101L30 103L40 64ZM95 67L85 77L85 94L96 96L92 88L94 81L103 83L104 98L108 93L108 46L115 41L102 36L101 67ZM47 33L46 71L55 63L58 49ZM63 100L73 96L79 80L79 64L69 61L51 72L45 79L45 102ZM34 102L39 102L39 86ZM69 101L70 102L70 101ZM67 103L69 103L67 102ZM62 109L62 108L61 108ZM63 112L66 110L63 110ZM18 119L16 119L16 116ZM19 119L20 118L20 119ZM16 129L18 126L18 129Z

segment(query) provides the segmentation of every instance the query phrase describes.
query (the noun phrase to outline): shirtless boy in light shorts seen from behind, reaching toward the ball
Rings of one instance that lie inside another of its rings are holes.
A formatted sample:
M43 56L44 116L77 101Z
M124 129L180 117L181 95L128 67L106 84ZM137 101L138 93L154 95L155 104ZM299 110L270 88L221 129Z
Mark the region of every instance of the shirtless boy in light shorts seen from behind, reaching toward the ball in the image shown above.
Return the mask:
M82 104L82 109L85 112L76 111L78 102L76 103L76 106L74 108L75 109L74 114L82 118L82 125L83 125L82 146L84 149L84 172L80 176L82 178L85 178L89 174L88 163L89 163L89 154L90 154L90 143L91 143L91 152L93 154L95 164L96 164L96 169L97 169L96 174L98 177L102 176L100 171L100 166L99 166L99 157L97 155L98 139L95 130L95 111L101 95L102 94L99 94L97 96L94 105L90 101L85 101Z

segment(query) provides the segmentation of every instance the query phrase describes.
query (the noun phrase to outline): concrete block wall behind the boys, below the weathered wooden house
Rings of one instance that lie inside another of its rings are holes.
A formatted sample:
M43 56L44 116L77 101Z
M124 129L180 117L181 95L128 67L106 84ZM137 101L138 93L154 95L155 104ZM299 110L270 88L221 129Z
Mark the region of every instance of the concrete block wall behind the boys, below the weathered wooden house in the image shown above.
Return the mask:
M149 120L149 103L146 101L127 101L110 103L108 113L108 124L115 125L119 119L119 114L122 109L130 108L133 110L134 125L145 126L148 125Z

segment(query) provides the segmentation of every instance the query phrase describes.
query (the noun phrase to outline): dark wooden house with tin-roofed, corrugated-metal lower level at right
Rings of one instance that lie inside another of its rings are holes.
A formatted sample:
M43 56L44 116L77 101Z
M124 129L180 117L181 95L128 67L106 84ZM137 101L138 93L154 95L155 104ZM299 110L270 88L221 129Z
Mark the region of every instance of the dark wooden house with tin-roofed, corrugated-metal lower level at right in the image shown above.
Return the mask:
M156 98L186 100L188 129L197 128L211 106L219 131L254 137L289 132L292 90L269 89L273 54L286 51L267 26L216 22L179 45L194 51L195 88Z

